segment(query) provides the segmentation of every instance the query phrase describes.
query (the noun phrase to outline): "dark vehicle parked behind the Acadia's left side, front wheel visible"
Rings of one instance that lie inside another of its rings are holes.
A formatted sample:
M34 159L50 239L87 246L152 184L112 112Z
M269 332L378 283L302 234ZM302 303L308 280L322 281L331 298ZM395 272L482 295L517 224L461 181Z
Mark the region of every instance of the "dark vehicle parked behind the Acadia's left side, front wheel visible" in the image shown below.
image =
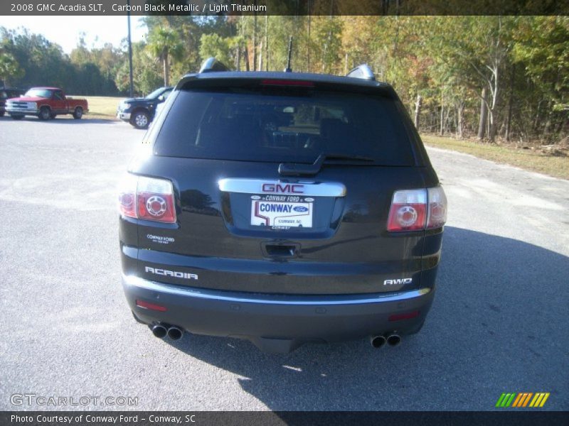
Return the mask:
M144 98L124 99L117 107L117 119L127 121L137 129L147 129L154 119L156 108L168 98L174 87L159 87Z

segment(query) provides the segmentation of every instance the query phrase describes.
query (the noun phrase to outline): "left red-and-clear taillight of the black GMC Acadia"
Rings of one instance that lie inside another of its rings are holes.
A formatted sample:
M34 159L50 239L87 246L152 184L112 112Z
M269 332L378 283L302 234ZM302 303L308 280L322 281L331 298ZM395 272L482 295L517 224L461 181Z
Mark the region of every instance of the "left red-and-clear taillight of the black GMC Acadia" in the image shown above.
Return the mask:
M127 217L175 223L172 182L128 174L119 184L119 212Z

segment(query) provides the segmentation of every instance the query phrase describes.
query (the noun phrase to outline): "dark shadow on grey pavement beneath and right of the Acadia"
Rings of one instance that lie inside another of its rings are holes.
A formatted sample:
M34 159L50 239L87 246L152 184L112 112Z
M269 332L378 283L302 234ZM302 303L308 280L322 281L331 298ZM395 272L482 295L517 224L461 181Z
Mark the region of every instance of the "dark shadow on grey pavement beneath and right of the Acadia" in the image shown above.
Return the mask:
M269 355L238 339L166 342L242 376L243 390L272 410L492 410L504 391L551 392L546 408L567 409L555 395L569 391L568 283L566 256L447 227L432 310L400 346Z

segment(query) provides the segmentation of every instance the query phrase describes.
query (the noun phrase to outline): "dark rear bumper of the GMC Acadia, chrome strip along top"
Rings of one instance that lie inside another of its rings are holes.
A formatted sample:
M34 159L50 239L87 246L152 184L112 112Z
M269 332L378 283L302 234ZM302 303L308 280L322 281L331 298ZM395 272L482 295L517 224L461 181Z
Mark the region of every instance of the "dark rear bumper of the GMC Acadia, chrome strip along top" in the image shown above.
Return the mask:
M337 342L413 332L425 320L434 288L388 295L269 295L188 288L130 275L122 277L134 314L147 324L164 322L194 334L248 339L260 349L289 351L304 342ZM136 300L166 307L138 307ZM408 320L390 315L419 311Z

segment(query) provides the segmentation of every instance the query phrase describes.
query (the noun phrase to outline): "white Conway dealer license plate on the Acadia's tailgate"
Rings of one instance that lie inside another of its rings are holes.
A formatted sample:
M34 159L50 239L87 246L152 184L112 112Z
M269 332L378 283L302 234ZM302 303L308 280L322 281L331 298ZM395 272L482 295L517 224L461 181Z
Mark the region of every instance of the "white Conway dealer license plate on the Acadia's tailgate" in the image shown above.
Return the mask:
M252 198L252 225L269 226L272 229L312 228L312 199L307 201L302 197L283 196L282 201L274 201L267 200L267 196ZM289 201L290 198L294 201Z

